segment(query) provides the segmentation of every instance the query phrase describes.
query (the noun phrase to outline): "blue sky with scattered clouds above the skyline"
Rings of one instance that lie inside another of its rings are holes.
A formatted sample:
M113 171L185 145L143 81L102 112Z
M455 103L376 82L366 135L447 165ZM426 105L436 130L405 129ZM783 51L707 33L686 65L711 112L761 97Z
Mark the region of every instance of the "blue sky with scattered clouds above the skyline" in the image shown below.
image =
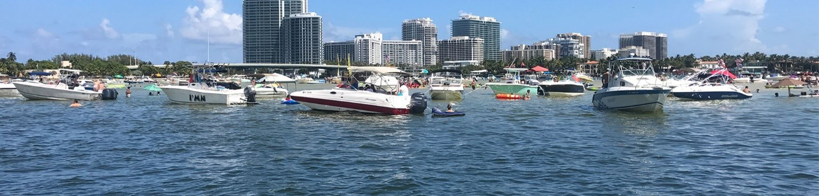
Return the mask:
M324 41L381 32L400 39L402 20L428 17L438 38L462 14L501 22L501 49L554 38L591 36L592 50L617 48L621 33L668 35L669 56L762 51L819 56L816 0L309 0L324 20ZM0 53L18 61L61 53L132 54L165 60L242 62L240 0L3 0ZM209 36L210 34L210 36ZM210 37L210 52L208 38Z

